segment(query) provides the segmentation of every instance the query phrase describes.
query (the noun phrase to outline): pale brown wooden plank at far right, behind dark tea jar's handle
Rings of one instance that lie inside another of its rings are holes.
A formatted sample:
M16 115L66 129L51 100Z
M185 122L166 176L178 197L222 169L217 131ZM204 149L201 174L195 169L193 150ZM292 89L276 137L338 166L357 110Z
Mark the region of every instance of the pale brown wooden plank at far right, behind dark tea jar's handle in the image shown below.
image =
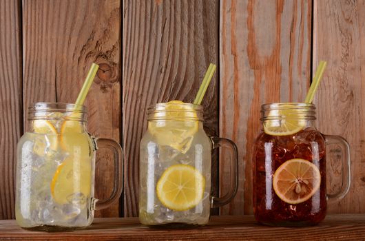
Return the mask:
M343 136L351 146L352 185L344 200L328 207L331 213L365 212L365 1L314 1L313 72L328 61L314 103L324 134ZM341 166L327 160L327 189L338 191Z

